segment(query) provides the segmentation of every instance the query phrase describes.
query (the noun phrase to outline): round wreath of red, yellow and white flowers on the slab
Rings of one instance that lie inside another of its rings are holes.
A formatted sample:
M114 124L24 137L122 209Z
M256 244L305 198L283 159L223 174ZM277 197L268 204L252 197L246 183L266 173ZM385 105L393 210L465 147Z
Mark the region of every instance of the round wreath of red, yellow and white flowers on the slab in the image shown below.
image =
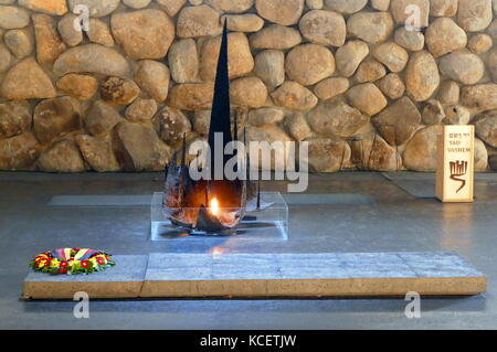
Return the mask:
M82 248L47 250L34 257L30 263L30 267L35 271L52 275L87 275L105 270L115 265L116 263L113 260L112 255L95 249Z

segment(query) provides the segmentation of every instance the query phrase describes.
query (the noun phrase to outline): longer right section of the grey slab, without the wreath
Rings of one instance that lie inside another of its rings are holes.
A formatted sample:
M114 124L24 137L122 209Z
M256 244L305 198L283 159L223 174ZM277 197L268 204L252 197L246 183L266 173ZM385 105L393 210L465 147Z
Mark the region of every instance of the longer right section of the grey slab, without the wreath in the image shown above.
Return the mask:
M475 295L486 278L452 253L151 254L141 297Z

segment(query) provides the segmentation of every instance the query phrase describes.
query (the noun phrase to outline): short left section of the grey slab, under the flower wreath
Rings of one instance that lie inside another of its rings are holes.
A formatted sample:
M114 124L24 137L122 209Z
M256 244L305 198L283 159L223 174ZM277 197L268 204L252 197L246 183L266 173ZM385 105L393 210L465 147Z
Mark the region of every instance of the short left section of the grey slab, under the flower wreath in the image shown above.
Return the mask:
M114 256L116 266L92 275L30 273L23 299L72 299L75 292L89 298L138 298L147 270L147 255Z

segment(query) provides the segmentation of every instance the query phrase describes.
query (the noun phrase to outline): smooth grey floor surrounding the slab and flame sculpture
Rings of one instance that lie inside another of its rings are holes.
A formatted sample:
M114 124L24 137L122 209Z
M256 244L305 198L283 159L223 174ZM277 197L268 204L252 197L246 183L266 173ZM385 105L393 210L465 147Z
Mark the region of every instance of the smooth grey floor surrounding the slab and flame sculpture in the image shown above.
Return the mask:
M424 184L433 174L402 173ZM360 193L374 204L292 205L288 242L240 238L149 242L149 209L51 207L53 195L151 194L161 174L0 172L1 329L496 329L497 174L476 181L474 204L416 199L380 173L315 174L308 193ZM286 190L284 182L266 191ZM488 275L488 292L423 299L408 319L403 299L21 301L27 264L44 249L82 246L114 254L455 250Z

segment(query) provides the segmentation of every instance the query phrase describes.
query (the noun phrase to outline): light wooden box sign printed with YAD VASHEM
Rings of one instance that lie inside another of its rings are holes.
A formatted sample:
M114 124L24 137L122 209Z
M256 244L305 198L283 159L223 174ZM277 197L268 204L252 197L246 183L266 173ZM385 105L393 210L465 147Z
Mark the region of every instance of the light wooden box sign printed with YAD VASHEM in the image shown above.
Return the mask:
M437 142L436 196L473 202L475 126L445 126Z

